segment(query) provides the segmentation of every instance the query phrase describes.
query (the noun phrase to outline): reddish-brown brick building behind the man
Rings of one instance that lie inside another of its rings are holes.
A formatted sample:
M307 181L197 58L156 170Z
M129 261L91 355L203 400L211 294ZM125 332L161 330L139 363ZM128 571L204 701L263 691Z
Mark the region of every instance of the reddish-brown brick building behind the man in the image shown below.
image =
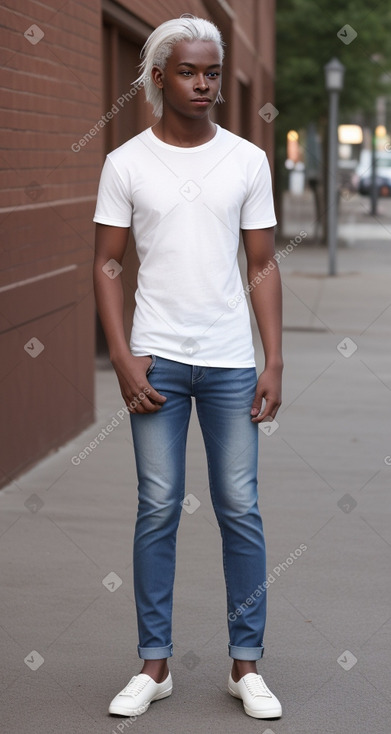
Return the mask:
M130 94L145 39L182 13L213 20L227 44L226 101L214 119L272 161L273 125L258 110L273 102L274 5L26 0L23 11L1 8L0 484L94 420L94 358L103 344L92 216L105 154L155 121L143 91ZM129 304L136 271L130 241Z

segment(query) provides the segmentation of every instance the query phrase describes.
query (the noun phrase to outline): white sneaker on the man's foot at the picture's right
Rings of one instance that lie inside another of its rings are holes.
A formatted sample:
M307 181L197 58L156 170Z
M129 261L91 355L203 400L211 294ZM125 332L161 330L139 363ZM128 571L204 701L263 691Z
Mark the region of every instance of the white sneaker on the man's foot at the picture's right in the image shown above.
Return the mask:
M278 698L269 691L262 676L257 673L247 673L237 683L230 673L228 691L231 696L242 699L246 714L254 719L277 719L282 714Z

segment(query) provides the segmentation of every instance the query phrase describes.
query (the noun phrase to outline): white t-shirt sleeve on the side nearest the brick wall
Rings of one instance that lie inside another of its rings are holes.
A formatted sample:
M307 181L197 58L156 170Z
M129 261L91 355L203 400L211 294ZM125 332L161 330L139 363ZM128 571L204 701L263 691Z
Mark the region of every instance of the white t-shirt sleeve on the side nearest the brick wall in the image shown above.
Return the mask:
M100 176L93 221L113 227L130 227L132 211L131 193L107 156Z

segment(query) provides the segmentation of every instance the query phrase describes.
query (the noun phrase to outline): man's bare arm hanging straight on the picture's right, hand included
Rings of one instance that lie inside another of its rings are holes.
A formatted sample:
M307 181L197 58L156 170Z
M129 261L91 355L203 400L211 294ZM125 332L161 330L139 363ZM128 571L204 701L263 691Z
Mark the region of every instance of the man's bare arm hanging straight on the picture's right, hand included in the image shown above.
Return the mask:
M274 227L242 230L247 257L251 305L265 353L265 368L258 378L251 409L252 421L274 419L281 405L282 383L282 287L274 260ZM255 279L258 277L258 284ZM259 282L259 278L261 281ZM262 398L266 405L260 413Z

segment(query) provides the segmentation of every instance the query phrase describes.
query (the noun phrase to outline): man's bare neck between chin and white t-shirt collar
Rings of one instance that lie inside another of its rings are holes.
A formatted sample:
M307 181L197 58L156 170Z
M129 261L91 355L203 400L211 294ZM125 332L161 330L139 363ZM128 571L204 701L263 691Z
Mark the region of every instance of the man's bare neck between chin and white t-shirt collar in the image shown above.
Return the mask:
M216 127L209 117L202 120L191 120L187 117L178 118L164 113L152 129L164 143L180 148L203 145L216 134Z

